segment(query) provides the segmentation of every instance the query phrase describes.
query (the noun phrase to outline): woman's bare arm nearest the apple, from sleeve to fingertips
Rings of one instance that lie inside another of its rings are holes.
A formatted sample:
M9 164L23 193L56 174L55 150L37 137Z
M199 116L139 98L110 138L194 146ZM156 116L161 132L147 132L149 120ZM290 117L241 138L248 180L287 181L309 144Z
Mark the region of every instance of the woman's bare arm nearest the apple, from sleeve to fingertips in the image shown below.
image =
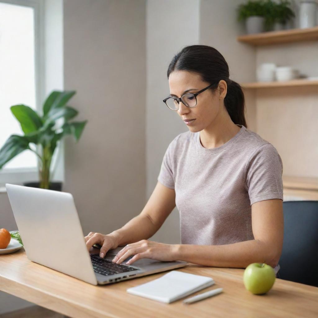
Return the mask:
M127 264L141 258L161 261L183 260L213 267L246 268L251 263L277 266L283 246L283 201L270 199L252 204L254 239L227 245L162 244L141 240L125 246L113 259L120 264L134 255Z

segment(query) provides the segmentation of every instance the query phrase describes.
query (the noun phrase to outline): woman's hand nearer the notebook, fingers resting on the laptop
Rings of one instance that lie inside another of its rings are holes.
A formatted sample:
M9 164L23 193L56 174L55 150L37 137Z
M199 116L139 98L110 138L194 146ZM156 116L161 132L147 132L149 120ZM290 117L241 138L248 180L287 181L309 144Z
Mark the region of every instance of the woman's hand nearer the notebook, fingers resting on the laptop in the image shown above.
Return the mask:
M131 243L123 247L123 249L117 253L115 258L113 259L113 262L116 264L120 264L131 255L135 256L129 259L126 264L130 265L136 260L142 258L169 262L177 259L177 251L178 245L163 244L143 239L139 242Z

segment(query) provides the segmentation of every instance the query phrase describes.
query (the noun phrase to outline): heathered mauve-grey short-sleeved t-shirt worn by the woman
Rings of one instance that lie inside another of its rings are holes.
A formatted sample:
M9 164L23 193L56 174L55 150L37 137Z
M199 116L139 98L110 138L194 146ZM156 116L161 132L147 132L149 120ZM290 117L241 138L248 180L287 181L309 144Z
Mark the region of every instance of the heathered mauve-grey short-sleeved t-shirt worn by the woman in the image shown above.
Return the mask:
M276 148L237 126L232 139L211 149L202 146L200 132L181 133L164 154L157 179L175 189L181 244L252 240L251 205L283 200L283 163Z

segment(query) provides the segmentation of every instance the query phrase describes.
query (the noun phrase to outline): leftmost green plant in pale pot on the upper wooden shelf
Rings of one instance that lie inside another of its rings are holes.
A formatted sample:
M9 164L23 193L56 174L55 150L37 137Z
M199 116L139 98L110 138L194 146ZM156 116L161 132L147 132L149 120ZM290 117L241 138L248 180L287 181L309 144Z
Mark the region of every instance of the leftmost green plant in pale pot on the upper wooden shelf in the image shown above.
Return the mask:
M266 8L264 0L249 0L241 3L238 8L238 21L245 21L247 34L264 31Z

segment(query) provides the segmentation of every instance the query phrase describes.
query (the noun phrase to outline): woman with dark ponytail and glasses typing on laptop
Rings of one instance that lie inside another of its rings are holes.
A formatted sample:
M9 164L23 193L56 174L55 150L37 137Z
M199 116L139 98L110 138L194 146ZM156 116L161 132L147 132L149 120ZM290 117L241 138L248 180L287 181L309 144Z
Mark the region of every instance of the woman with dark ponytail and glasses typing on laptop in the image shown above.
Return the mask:
M284 224L280 155L247 128L244 94L215 48L184 47L167 76L171 96L163 101L189 131L170 142L140 215L108 235L90 232L87 248L99 243L104 257L126 245L117 264L132 255L126 264L141 258L236 268L265 262L277 274ZM175 206L181 244L147 240Z

